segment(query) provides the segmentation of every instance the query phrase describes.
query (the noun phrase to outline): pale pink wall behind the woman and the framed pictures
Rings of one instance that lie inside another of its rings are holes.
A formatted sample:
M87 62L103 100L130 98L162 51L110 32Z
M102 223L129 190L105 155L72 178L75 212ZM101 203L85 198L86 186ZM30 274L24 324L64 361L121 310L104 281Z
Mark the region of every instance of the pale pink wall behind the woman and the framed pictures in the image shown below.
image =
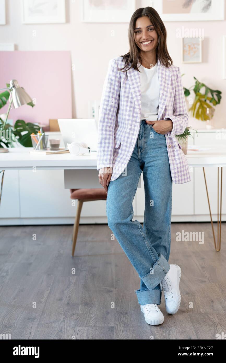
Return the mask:
M22 24L21 1L6 0L7 25L0 25L0 42L13 42L16 50L70 50L75 64L73 76L73 117L88 117L88 102L100 99L108 61L125 54L128 46L128 23L81 23L79 0L66 0L66 24ZM137 8L149 1L136 1ZM226 21L166 22L168 50L175 65L180 66L184 86L193 84L193 76L213 89L222 91L223 101L216 107L214 126L225 127L226 80L222 79L222 36ZM180 38L177 28L204 29L203 62L181 64ZM37 36L32 36L32 31ZM114 30L114 36L112 36ZM60 72L60 70L59 70ZM204 127L193 121L193 127Z

